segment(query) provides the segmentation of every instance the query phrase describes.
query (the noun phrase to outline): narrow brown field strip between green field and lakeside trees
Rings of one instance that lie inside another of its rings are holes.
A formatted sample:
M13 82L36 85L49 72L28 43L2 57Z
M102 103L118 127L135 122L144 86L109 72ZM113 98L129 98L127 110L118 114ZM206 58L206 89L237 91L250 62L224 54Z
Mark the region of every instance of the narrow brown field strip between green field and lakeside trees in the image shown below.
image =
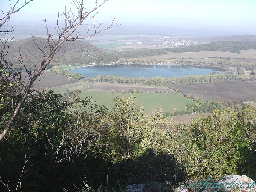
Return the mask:
M125 90L128 91L129 89L133 89L135 92L137 89L140 92L147 92L152 93L155 91L166 91L171 92L172 90L166 88L166 87L151 87L151 86L143 86L143 85L138 85L138 84L122 84L122 83L104 83L104 82L95 82L92 86L90 86L89 90L90 92L98 92L98 91L105 91L105 92L111 92L112 90L114 92L122 91L124 92Z

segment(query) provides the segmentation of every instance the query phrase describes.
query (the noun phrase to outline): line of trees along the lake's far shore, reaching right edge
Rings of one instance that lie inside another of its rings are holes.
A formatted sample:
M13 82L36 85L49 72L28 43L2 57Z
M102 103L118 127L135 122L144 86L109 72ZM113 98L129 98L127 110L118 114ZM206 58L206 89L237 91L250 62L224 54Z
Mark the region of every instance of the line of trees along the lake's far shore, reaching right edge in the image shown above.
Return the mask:
M214 67L235 67L253 70L256 68L254 63L234 62L228 60L199 60L199 59L141 59L141 58L120 58L119 63L135 63L135 64L172 64L172 65L199 65L199 66L214 66Z

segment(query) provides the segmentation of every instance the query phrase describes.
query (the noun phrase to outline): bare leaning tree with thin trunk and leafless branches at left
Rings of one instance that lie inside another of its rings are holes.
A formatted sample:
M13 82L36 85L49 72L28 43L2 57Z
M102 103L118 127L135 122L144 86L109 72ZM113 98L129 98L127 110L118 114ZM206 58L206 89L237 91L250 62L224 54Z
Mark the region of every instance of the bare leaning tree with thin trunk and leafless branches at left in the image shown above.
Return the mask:
M32 0L29 0L29 2L32 1ZM7 125L4 127L4 131L0 134L0 140L2 140L4 138L4 136L10 131L11 129L11 126L12 126L12 123L14 122L17 114L19 113L21 107L22 107L22 104L23 102L25 101L25 99L27 98L35 80L44 72L44 70L49 66L50 62L52 61L53 57L54 57L54 54L56 53L57 49L60 48L60 46L65 42L65 41L68 41L68 40L76 40L76 39L86 39L86 38L89 38L95 34L98 34L98 33L101 33L102 31L105 31L106 29L109 29L109 28L113 28L115 26L118 26L118 22L115 22L116 18L113 18L113 21L112 23L106 27L105 29L102 29L102 30L99 30L97 31L97 29L101 26L101 23L98 27L95 27L95 24L94 24L94 33L93 34L90 34L87 36L88 32L89 32L89 29L90 27L87 28L87 33L85 35L85 37L79 37L79 34L76 35L76 37L72 37L71 35L74 33L74 31L76 29L78 29L78 27L80 25L84 25L83 22L88 19L88 18L93 18L94 19L94 12L99 8L101 7L103 4L105 4L108 0L104 0L102 3L98 3L98 1L96 1L96 5L95 7L92 9L92 10L89 10L87 11L85 8L84 8L84 5L83 5L83 1L84 0L77 0L77 1L73 1L73 3L75 4L75 7L77 8L77 13L74 14L72 11L71 11L71 5L70 5L70 8L69 10L67 11L65 9L65 12L63 12L63 14L60 14L62 16L62 18L64 18L65 20L65 26L59 26L59 16L58 16L58 21L57 21L57 29L58 29L58 33L59 33L59 39L57 42L55 42L53 39L52 39L52 35L50 33L48 33L48 27L47 27L47 22L46 22L46 19L45 19L45 23L46 23L46 32L47 32L47 36L48 36L48 40L47 40L47 43L48 43L48 47L47 49L49 50L49 53L46 55L45 52L42 51L42 49L39 49L41 50L41 52L44 54L45 58L44 60L42 61L42 63L39 65L39 67L37 68L37 71L34 72L33 76L30 76L30 80L29 80L29 83L25 86L25 91L23 92L22 94L22 97L19 101L19 103L16 105L16 108L14 110L14 112L12 113L11 115L11 118L9 120L9 122L7 123ZM27 3L29 3L27 2ZM26 4L25 4L26 5ZM25 6L24 5L24 6ZM23 6L23 7L24 7ZM12 8L12 11L14 11L14 7ZM13 13L11 11L11 14ZM17 10L16 10L17 11ZM91 16L93 15L94 16ZM97 14L97 13L96 13ZM8 18L10 18L10 16L8 16ZM8 20L8 19L7 19ZM6 21L5 21L6 22ZM56 28L55 28L56 29ZM56 29L56 30L57 30ZM36 44L37 45L37 44ZM38 45L37 45L38 46Z

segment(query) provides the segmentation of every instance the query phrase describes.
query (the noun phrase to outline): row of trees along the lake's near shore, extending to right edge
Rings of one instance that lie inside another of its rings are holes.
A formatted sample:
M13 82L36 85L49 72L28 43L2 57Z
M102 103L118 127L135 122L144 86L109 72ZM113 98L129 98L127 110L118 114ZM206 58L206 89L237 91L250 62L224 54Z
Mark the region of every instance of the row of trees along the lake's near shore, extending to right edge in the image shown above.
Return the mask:
M126 78L121 76L110 75L97 75L93 79L96 82L110 82L110 83L125 83L125 84L145 84L152 86L170 86L185 83L204 83L204 82L217 82L223 80L242 80L253 81L256 80L256 76L253 75L235 75L235 74L215 74L215 75L186 75L179 77L150 77L150 78Z

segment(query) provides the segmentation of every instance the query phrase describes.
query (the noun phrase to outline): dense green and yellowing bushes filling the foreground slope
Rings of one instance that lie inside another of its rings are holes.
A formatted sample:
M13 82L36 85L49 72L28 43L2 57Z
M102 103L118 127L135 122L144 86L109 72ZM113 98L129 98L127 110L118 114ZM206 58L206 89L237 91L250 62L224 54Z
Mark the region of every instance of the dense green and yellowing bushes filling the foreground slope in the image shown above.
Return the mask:
M10 191L18 184L22 191L53 192L74 191L84 177L89 186L114 189L203 176L256 177L252 106L220 108L185 126L164 118L162 109L146 116L135 99L116 97L107 110L91 97L64 102L53 91L31 92L16 129L0 142L1 181ZM3 128L12 108L0 110ZM3 184L0 189L8 191Z

